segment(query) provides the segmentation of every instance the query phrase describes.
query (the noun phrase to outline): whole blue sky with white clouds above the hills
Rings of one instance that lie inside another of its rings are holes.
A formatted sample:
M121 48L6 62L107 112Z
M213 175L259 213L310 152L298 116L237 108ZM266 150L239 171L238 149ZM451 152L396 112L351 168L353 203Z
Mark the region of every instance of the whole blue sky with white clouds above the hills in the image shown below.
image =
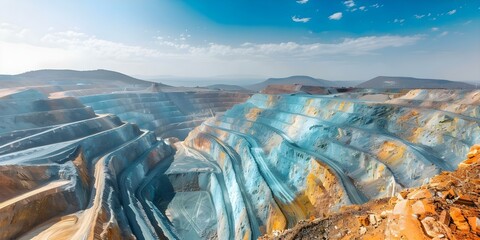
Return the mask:
M480 80L480 0L0 0L0 73Z

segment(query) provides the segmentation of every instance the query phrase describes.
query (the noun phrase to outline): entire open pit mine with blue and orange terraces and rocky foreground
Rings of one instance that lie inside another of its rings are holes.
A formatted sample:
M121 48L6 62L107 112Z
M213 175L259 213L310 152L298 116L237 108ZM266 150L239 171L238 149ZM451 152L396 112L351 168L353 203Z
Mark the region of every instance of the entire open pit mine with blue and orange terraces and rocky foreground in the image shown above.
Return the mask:
M480 91L34 83L0 89L0 239L480 237Z

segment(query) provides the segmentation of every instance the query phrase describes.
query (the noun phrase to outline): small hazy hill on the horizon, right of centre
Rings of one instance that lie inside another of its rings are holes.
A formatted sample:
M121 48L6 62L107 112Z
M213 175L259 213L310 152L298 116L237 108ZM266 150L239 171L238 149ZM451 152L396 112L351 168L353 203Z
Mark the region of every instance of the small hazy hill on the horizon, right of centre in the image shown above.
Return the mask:
M260 91L266 88L268 85L292 85L301 84L307 86L319 86L319 87L336 87L336 82L327 81L323 79L317 79L309 76L291 76L286 78L269 78L261 83L247 85L245 88Z

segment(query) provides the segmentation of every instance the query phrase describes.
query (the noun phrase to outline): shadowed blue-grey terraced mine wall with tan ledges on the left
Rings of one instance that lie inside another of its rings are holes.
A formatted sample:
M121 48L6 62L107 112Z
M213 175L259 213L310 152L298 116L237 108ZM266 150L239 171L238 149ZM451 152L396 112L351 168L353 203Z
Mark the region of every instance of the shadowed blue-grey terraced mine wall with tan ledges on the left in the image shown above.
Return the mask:
M21 96L0 100L1 239L165 237L145 189L173 148L77 99Z

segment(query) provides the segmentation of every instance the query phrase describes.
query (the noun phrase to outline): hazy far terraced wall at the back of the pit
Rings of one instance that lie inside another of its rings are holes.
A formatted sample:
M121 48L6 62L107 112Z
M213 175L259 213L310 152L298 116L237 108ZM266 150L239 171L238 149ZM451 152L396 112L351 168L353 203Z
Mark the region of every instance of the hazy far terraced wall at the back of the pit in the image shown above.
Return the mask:
M183 140L205 119L249 97L250 94L235 92L138 92L92 95L79 99L98 114L115 114L140 128L154 131L159 137Z

